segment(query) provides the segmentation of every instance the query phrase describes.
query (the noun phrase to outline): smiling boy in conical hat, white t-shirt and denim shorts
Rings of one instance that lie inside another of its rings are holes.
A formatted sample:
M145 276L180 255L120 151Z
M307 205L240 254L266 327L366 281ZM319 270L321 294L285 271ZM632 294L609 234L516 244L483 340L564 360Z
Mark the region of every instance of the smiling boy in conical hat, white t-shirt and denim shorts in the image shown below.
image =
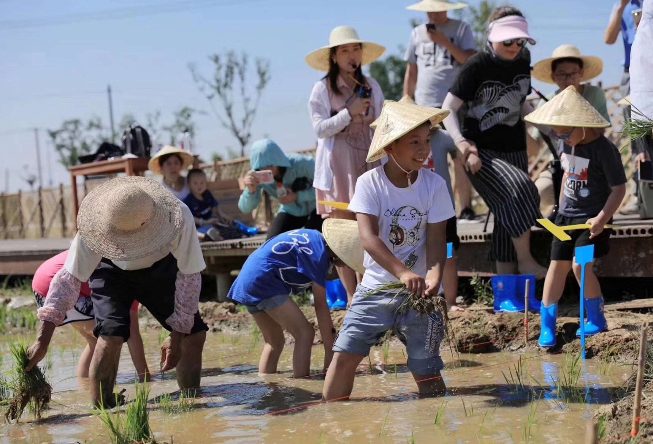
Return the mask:
M439 356L443 320L398 311L407 296L377 290L401 281L410 293L437 296L447 259L445 229L454 210L445 181L422 169L431 151L431 126L449 112L385 101L367 161L390 160L360 176L349 210L357 214L366 268L334 344L323 397L342 400L353 389L356 368L387 330L406 345L408 368L420 393L442 392Z

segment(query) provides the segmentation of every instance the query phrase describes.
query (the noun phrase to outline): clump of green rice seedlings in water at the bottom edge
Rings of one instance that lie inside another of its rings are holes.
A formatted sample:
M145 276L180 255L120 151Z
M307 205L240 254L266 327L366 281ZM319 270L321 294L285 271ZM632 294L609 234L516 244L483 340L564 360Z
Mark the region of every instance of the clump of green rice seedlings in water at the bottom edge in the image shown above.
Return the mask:
M109 439L112 444L155 444L156 441L150 429L150 413L148 412L148 398L150 389L146 385L135 382L136 397L127 405L127 410L116 407L115 413L110 413L100 406L99 411L92 411L95 417L102 420L108 429ZM100 393L102 397L102 393ZM116 393L116 405L120 405L119 394Z

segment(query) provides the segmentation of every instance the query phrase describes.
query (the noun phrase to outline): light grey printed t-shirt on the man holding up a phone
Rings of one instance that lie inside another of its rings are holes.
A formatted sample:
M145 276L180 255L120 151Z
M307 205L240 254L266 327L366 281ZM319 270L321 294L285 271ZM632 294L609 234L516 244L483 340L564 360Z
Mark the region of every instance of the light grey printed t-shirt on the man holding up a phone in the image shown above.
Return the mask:
M476 50L476 42L470 25L460 20L449 20L436 26L461 50ZM415 103L440 108L456 80L460 63L443 46L434 43L426 31L426 24L413 28L404 60L417 64L417 87Z

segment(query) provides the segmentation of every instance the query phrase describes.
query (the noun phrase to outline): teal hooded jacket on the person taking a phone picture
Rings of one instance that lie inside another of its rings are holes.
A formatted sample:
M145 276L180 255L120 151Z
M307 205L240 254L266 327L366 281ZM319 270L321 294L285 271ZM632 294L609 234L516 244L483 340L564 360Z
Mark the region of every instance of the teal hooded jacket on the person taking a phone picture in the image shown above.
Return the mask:
M279 213L287 213L296 217L308 216L315 210L315 188L313 188L313 174L315 173L315 159L313 157L297 154L284 153L281 148L270 139L257 140L251 146L249 155L251 169L258 170L265 167L285 167L283 174L283 186L292 189L296 179L306 178L306 189L297 191L297 200L291 204L281 204ZM259 185L254 193L245 188L240 199L238 208L243 213L253 212L261 203L261 189L268 195L277 197L277 184L266 183Z

